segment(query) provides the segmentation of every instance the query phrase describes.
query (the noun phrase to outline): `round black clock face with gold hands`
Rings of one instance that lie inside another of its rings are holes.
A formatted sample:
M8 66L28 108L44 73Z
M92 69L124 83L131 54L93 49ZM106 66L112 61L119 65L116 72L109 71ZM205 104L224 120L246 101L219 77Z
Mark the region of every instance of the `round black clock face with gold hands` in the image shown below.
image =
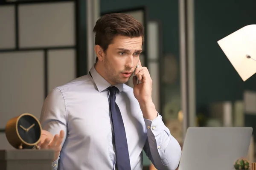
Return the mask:
M20 117L17 123L17 130L21 139L28 144L38 142L41 136L41 127L37 119L30 115Z

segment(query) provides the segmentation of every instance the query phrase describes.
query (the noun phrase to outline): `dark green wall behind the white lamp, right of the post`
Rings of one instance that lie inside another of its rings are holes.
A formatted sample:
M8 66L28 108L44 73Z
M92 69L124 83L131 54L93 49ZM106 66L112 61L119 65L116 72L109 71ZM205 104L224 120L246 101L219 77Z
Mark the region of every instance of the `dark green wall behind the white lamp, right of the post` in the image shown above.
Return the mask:
M210 102L241 100L244 90L256 90L256 75L243 82L217 43L246 25L256 24L255 8L256 0L195 0L198 108Z

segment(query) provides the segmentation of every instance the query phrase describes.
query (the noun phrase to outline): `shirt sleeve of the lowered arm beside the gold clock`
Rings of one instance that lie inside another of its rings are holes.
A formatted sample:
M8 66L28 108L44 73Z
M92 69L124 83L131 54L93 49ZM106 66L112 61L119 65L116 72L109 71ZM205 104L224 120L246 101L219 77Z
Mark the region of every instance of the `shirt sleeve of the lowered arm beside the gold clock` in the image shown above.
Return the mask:
M58 88L53 88L45 99L41 111L40 123L42 129L52 133L53 136L64 130L63 146L67 137L67 110L65 98ZM61 156L52 162L52 170L58 169L59 159L61 159Z

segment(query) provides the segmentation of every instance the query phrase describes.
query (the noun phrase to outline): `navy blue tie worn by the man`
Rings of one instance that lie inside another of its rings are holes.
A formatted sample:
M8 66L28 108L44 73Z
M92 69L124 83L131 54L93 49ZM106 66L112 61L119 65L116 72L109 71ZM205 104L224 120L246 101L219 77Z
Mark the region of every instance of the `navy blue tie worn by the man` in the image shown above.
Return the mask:
M114 129L117 170L131 170L125 126L119 107L116 104L116 92L118 89L112 86L108 90L110 92L110 109Z

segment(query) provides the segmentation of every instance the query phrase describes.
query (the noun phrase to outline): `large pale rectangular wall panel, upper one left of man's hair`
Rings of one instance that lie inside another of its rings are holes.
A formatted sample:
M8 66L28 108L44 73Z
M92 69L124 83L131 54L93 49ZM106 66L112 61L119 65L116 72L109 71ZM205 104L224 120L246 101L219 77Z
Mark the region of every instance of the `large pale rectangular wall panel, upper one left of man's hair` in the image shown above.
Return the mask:
M75 45L74 2L19 6L20 48Z

